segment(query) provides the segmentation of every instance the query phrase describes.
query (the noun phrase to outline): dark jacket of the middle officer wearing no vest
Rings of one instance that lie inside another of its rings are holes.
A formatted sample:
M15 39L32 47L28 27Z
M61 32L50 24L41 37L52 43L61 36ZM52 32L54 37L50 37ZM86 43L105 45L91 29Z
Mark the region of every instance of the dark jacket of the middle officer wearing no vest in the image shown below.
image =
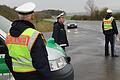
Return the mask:
M64 28L64 24L61 24L59 22L54 23L53 27L53 34L52 37L55 39L55 42L57 44L67 44L66 46L69 46L66 30Z

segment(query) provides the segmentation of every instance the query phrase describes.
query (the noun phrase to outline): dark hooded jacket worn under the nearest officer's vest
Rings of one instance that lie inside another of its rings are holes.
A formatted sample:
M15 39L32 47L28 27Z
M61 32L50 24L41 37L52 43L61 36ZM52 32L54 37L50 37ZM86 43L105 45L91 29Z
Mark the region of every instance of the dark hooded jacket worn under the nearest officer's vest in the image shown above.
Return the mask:
M10 35L13 37L19 37L21 33L27 28L34 29L34 25L29 21L16 20L12 23ZM23 76L23 78L21 77L21 79L19 80L50 80L49 78L51 76L51 72L48 62L48 54L44 41L41 38L41 34L38 35L36 41L34 42L30 54L33 66L37 71L28 73L14 73L12 71L11 57L9 56L9 54L6 54L5 60L13 75L15 75L15 77Z

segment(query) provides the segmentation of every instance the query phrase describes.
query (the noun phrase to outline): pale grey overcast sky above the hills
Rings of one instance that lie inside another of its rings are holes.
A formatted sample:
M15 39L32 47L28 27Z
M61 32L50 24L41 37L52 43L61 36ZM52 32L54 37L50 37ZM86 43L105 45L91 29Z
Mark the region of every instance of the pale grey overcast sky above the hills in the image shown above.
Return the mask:
M25 2L34 2L36 10L56 9L66 12L85 12L87 0L0 0L0 4L10 7L19 6ZM95 0L98 8L108 7L113 10L120 10L120 0Z

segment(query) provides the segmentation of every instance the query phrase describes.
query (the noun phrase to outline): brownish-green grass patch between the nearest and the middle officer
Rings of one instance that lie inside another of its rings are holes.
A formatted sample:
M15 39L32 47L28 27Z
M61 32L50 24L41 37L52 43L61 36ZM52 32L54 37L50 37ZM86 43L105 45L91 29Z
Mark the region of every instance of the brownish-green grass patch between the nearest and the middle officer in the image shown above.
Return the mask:
M36 29L40 32L51 32L53 30L53 22L46 20L34 21Z

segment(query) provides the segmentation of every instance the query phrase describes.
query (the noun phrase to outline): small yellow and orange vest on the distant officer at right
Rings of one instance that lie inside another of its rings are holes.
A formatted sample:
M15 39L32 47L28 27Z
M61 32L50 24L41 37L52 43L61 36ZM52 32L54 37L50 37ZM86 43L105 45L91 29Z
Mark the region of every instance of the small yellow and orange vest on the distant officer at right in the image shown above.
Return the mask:
M103 22L104 22L104 30L107 31L107 30L111 30L113 29L112 27L112 21L113 21L114 17L110 17L109 19L103 19Z

